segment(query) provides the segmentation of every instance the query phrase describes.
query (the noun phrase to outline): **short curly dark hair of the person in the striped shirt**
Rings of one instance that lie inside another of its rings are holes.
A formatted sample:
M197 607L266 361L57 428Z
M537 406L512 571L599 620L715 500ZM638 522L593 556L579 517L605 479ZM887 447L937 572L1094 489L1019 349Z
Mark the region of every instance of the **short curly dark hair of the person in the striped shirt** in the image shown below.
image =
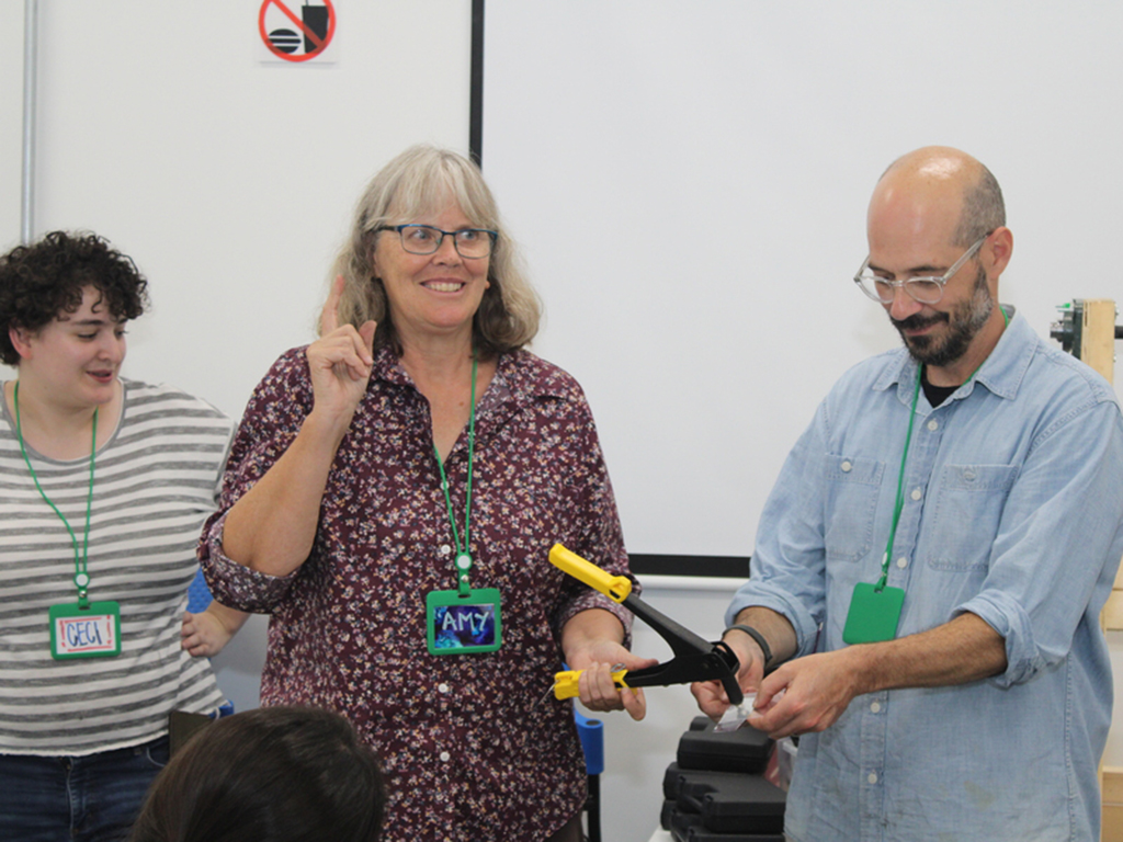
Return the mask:
M11 328L36 331L82 306L82 291L101 293L109 314L128 321L148 305L148 281L133 258L95 234L52 231L0 257L0 359L19 363Z

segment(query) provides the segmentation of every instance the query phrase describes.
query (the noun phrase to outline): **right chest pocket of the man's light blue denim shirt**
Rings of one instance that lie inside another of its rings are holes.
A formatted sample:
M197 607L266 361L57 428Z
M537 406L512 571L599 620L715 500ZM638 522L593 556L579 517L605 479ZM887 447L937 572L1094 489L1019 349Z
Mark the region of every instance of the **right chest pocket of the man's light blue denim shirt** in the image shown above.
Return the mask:
M1014 465L946 465L925 543L933 570L985 570L1017 476Z

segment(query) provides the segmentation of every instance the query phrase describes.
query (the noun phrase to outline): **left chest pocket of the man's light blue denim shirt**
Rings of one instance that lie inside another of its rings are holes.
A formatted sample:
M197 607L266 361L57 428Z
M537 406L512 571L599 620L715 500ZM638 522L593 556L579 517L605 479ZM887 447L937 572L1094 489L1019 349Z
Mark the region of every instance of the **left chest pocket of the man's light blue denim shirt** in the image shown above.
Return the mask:
M823 540L828 559L857 561L869 553L884 473L885 463L876 459L825 457Z

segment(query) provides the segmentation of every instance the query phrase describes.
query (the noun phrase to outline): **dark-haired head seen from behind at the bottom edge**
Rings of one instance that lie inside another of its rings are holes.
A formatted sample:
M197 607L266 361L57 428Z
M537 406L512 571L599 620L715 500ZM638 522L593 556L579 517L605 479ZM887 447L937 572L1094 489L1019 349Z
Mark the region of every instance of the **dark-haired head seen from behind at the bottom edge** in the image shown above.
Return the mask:
M374 842L374 752L343 716L262 707L195 734L156 778L130 842Z

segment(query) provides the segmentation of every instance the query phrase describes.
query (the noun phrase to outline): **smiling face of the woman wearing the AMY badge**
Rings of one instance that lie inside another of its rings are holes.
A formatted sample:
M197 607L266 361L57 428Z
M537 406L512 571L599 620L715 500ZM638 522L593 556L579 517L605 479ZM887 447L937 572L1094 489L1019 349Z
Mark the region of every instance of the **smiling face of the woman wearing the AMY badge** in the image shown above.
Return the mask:
M401 223L428 225L444 231L478 227L453 201L438 212ZM402 248L395 231L383 231L372 263L386 291L390 317L403 347L448 337L471 347L472 319L490 286L489 257L460 257L447 235L433 254L414 255Z

